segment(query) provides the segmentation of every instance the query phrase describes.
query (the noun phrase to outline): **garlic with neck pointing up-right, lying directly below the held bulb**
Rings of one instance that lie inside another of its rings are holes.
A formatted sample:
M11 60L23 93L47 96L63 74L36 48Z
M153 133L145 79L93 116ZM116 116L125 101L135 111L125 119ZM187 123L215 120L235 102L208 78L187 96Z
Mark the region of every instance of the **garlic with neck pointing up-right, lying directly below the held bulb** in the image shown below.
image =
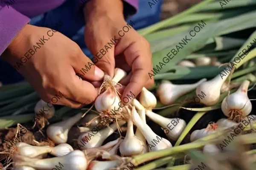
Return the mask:
M125 124L125 121L118 121L118 125L122 126ZM100 147L105 139L108 138L114 131L117 130L116 122L114 122L109 127L106 127L102 130L97 131L96 133L84 132L78 137L78 146L80 150L85 150L92 147Z

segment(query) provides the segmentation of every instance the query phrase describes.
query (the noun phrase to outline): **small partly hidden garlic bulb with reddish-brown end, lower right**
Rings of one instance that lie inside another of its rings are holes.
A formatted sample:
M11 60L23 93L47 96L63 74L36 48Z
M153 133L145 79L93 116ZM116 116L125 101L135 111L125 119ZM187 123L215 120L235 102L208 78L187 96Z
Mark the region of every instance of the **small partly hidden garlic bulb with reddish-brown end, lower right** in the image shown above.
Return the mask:
M190 136L190 141L194 142L197 139L203 138L209 134L215 133L216 128L218 127L217 124L210 124L207 126L207 128L200 129L200 130L195 130L194 132L191 133Z

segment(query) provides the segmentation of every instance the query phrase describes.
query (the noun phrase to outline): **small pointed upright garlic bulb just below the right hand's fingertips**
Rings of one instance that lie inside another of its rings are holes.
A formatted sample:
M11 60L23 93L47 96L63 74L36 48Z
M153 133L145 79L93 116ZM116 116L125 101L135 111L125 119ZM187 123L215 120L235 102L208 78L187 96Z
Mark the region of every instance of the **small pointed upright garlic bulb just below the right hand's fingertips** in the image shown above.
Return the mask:
M143 87L140 94L140 103L146 109L152 109L155 108L157 105L157 98L154 96L154 94L152 94L145 87Z

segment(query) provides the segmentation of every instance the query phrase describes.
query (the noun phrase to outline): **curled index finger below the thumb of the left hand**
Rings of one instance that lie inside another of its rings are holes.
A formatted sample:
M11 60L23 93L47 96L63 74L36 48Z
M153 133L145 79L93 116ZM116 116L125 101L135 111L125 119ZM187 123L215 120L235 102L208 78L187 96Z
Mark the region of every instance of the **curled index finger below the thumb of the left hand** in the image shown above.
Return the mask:
M75 74L70 75L66 90L69 94L67 99L84 105L93 102L98 95L98 90L90 82L79 79Z

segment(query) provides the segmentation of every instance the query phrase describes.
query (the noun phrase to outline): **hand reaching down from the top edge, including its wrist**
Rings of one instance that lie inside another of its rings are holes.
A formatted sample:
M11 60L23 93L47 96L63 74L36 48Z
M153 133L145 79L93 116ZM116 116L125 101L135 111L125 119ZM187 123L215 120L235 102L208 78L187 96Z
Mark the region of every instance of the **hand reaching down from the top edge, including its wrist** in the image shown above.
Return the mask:
M84 7L84 17L84 38L94 55L92 61L111 77L115 65L131 71L120 81L127 85L122 99L130 91L137 96L144 86L149 88L154 84L154 79L148 74L152 70L150 45L125 22L121 0L90 0Z

